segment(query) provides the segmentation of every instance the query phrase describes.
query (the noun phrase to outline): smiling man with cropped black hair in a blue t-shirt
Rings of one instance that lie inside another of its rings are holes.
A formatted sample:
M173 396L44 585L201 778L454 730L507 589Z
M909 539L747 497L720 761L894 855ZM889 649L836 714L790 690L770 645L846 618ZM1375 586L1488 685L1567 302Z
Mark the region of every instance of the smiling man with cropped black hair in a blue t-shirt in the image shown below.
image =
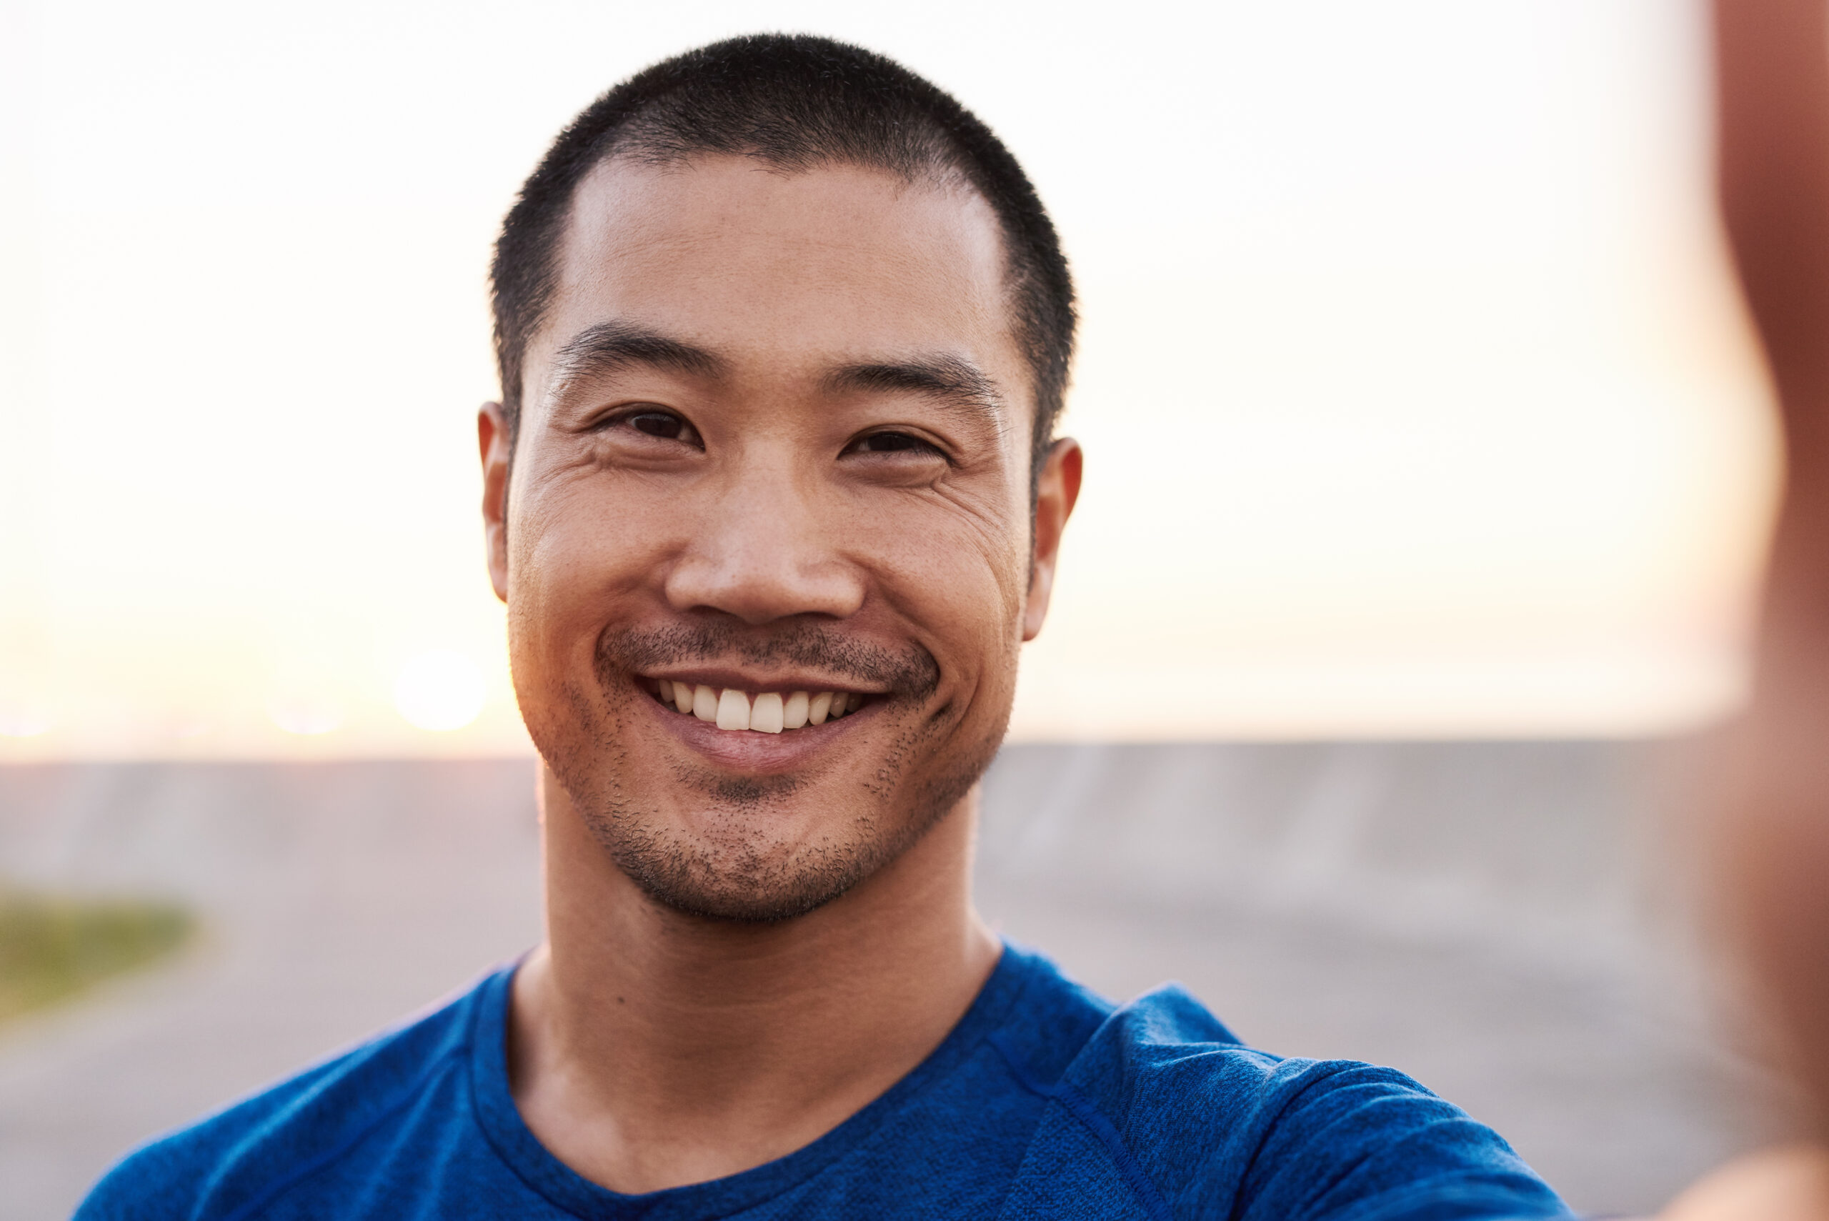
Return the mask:
M1564 1216L1408 1078L971 910L1081 477L1066 261L977 119L821 38L682 55L558 137L494 287L547 943L82 1216Z

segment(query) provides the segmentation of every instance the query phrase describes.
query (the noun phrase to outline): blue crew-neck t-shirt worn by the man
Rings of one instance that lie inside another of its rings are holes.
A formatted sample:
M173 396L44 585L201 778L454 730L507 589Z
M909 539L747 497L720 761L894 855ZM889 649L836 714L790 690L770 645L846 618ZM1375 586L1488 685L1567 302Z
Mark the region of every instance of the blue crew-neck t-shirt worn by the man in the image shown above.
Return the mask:
M812 1144L620 1195L514 1108L512 974L154 1141L77 1219L1569 1216L1498 1133L1401 1073L1251 1051L1180 987L1118 1007L1015 947L933 1055Z

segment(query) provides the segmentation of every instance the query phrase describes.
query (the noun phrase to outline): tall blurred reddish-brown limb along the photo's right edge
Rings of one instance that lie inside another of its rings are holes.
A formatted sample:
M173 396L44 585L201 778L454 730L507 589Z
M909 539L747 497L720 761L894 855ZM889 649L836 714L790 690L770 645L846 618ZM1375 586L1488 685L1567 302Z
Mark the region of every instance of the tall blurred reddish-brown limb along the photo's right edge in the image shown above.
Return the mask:
M1829 18L1714 0L1719 192L1785 428L1754 706L1716 839L1736 932L1829 1102Z

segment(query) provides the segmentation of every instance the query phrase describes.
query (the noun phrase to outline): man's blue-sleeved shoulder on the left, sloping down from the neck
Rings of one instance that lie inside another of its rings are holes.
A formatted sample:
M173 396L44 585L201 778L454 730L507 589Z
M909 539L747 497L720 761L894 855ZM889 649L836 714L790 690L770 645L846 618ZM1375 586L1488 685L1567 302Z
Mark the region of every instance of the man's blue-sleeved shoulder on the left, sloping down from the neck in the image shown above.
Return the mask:
M137 1148L90 1192L77 1221L230 1217L258 1208L269 1184L329 1164L461 1066L476 1007L507 985L508 972Z

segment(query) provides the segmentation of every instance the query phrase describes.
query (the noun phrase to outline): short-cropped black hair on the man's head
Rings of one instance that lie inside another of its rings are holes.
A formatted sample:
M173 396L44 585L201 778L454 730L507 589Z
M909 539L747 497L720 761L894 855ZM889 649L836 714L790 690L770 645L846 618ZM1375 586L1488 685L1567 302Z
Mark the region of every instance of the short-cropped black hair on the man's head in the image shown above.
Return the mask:
M552 141L501 225L490 267L510 439L578 183L616 155L669 165L701 154L786 170L861 165L977 190L1002 230L1011 331L1033 371L1039 477L1074 356L1074 280L1054 221L1002 141L949 93L874 51L812 35L746 35L675 55L604 93Z

